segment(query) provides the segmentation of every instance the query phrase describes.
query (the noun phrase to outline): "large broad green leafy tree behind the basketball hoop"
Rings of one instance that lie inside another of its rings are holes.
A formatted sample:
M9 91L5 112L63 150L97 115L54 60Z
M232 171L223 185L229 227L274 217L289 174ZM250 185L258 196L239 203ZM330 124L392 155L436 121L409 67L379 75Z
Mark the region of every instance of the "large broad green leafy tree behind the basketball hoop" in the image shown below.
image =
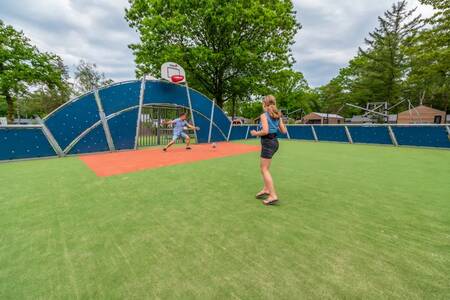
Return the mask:
M221 107L248 98L261 80L293 63L300 25L290 0L129 2L126 19L141 39L130 45L137 74L158 76L162 63L176 61Z

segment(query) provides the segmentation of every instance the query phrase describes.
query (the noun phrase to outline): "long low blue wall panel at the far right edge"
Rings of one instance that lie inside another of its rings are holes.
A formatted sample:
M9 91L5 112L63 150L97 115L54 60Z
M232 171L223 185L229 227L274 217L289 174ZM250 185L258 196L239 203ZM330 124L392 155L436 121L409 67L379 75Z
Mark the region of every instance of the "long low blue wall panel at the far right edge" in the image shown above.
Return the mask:
M444 126L392 126L392 130L400 146L450 148Z

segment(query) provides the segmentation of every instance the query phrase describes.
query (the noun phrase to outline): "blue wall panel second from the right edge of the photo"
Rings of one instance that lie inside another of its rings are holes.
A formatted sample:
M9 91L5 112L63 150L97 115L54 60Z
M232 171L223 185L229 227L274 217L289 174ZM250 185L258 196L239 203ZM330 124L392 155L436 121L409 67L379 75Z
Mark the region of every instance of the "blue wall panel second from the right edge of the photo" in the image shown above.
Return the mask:
M392 145L385 126L348 126L354 143Z

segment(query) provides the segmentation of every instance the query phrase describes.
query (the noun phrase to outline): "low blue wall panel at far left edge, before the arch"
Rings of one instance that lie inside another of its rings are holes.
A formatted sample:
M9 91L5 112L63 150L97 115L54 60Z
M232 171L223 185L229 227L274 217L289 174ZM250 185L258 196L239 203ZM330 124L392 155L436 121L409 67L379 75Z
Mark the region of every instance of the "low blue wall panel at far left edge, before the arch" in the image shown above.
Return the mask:
M0 160L55 155L41 128L0 127Z

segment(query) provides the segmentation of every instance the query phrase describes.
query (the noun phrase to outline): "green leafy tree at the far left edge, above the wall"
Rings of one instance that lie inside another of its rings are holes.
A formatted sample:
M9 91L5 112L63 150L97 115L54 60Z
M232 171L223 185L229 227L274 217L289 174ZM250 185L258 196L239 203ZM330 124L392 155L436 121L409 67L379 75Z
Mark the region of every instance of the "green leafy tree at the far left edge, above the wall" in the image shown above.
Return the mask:
M15 102L30 88L63 88L61 58L40 52L23 32L0 20L0 95L7 104L7 117L14 119Z

